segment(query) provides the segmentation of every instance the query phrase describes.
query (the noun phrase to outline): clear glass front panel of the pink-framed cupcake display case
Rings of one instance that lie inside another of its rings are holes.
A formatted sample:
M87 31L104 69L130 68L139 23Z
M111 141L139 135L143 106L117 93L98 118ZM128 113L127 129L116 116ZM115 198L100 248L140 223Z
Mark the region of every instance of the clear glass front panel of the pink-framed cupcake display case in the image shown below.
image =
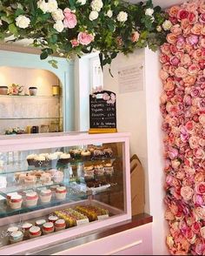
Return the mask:
M126 212L123 146L109 143L0 152L1 245L32 238L23 223L48 222L50 214L65 221L61 227L71 228ZM8 232L14 226L19 236L23 233L15 241ZM60 229L56 226L50 232ZM43 229L41 233L45 234Z

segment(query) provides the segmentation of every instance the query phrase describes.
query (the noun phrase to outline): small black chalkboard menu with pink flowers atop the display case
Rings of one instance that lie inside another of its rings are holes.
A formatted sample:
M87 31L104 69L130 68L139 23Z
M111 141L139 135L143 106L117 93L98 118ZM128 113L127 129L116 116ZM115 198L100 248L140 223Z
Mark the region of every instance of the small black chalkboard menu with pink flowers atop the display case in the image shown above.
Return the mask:
M116 93L98 91L89 95L89 133L116 132Z

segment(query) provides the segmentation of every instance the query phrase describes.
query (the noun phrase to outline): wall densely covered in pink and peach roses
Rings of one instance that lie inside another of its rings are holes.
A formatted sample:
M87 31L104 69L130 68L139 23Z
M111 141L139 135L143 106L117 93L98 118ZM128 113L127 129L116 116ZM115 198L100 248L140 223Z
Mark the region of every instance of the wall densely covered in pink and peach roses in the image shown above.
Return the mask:
M205 255L205 1L175 5L161 46L167 246Z

